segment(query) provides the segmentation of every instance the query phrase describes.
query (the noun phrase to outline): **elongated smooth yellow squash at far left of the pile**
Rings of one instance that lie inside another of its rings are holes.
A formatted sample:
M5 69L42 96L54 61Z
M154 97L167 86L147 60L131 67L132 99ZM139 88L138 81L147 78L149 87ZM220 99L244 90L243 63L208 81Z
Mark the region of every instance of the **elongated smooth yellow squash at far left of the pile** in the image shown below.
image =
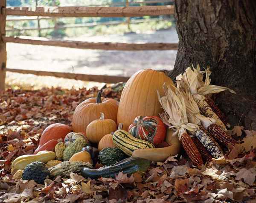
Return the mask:
M12 162L13 169L24 169L32 162L39 161L47 163L49 160L55 159L55 153L53 151L40 151L38 154L28 154L17 157Z

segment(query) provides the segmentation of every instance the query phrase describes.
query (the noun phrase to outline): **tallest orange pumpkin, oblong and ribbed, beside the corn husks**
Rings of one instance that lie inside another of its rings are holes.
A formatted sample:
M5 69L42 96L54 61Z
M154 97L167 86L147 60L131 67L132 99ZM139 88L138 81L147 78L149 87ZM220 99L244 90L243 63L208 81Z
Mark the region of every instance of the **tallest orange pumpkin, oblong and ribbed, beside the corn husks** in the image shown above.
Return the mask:
M122 91L117 113L117 123L123 123L123 130L128 131L137 116L159 116L163 109L157 90L163 96L164 83L174 85L171 78L157 70L140 70L131 76Z

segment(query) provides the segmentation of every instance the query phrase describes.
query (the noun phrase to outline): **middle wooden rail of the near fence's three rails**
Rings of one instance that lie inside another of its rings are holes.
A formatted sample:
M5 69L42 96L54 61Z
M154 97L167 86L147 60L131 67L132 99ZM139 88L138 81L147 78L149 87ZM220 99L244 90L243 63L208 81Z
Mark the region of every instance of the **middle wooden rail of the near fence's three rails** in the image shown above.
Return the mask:
M35 40L29 38L3 37L4 42L13 42L19 44L32 44L44 46L61 46L76 49L102 49L119 51L142 51L142 50L176 50L176 43L146 43L146 44L128 44L128 43L110 43L110 42L83 42L83 41L52 41Z

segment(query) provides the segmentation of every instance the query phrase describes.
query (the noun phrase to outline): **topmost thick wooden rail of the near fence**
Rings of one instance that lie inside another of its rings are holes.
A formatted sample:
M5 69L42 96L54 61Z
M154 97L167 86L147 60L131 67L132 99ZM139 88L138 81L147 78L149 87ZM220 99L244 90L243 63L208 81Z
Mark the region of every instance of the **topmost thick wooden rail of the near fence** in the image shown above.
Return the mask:
M140 17L145 15L174 14L173 6L129 6L129 7L12 7L7 15L48 16L48 17Z

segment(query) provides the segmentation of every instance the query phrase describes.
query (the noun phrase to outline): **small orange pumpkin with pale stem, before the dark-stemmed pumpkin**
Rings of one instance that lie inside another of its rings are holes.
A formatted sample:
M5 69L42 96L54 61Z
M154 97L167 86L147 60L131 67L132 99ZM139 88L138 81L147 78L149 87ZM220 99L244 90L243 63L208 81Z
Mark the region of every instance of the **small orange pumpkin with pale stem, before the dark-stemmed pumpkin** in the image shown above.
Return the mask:
M86 136L90 142L99 143L106 134L116 131L117 125L112 119L105 119L104 113L98 120L91 122L86 128Z

